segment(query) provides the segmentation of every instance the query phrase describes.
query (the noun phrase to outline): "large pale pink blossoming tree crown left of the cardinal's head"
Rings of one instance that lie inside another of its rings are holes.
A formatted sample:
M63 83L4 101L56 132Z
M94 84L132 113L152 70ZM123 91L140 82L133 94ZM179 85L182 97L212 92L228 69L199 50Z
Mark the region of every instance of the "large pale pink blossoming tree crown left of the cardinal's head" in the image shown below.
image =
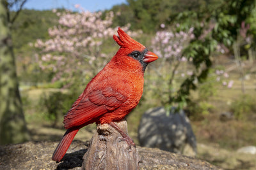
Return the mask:
M77 4L76 8L80 8ZM59 17L58 24L48 30L51 38L46 41L37 39L35 47L40 50L38 65L41 69L54 74L52 81L67 80L71 82L72 74L82 71L91 74L99 71L103 64L109 60L109 53L102 53L100 46L116 34L117 27L113 28L113 11L106 13L102 20L102 12L91 13L81 11L72 13L56 12ZM128 31L131 25L123 27L131 36L138 36L141 31ZM54 55L53 55L54 53ZM88 64L89 63L89 64ZM84 69L86 67L86 69ZM90 71L89 71L90 70ZM65 77L63 77L65 76Z

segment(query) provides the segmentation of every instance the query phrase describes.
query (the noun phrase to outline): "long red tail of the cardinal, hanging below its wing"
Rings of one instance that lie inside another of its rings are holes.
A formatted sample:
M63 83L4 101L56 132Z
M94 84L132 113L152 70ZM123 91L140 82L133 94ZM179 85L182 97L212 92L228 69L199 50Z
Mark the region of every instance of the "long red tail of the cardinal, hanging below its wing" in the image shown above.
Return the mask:
M64 157L65 153L67 152L68 147L72 143L78 131L79 129L68 129L67 132L65 132L63 138L61 139L61 142L52 154L52 160L60 162L60 160Z

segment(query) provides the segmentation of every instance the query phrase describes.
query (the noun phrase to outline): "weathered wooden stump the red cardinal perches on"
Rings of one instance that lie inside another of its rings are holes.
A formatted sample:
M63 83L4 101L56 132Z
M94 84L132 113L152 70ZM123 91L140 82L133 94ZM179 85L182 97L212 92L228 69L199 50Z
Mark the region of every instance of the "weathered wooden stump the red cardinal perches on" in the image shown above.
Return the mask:
M127 133L126 120L115 124ZM84 154L81 169L139 169L136 147L129 146L122 139L121 134L111 125L98 125L88 151Z

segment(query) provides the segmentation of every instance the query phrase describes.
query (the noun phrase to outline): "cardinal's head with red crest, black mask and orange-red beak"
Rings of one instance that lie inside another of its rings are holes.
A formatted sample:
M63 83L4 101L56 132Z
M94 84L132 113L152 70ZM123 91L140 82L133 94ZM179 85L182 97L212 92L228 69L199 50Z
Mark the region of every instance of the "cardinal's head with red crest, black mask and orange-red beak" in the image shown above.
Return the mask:
M157 55L147 50L144 45L138 43L126 34L120 27L118 28L118 36L114 35L116 43L120 46L115 57L124 62L140 62L143 71L145 71L147 64L158 59Z

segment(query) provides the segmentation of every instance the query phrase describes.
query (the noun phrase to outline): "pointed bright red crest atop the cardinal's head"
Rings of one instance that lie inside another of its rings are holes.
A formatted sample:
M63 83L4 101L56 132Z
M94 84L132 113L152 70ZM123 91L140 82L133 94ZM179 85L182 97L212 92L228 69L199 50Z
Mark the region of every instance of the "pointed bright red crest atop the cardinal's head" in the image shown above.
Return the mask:
M145 46L141 45L141 43L138 43L138 41L132 39L120 27L118 27L117 33L118 36L114 35L113 38L121 48L145 48Z

